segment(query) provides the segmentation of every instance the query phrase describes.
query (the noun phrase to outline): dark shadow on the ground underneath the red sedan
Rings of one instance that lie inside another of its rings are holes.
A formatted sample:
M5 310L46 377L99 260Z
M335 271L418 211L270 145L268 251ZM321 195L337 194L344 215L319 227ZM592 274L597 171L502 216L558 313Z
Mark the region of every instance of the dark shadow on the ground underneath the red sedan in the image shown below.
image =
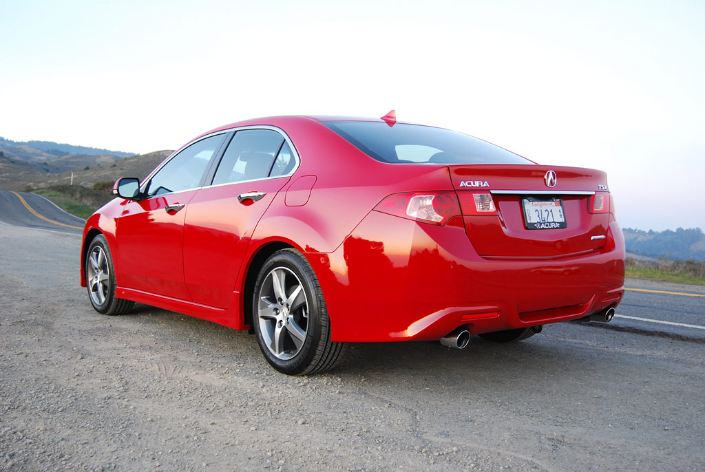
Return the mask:
M232 355L233 360L252 365L253 368L268 368L255 336L247 331L233 330L143 304L137 304L133 311L123 316L134 317L136 323L159 325L160 333L166 329L164 336L171 341L198 342L202 345L200 355L210 350L212 353ZM571 330L572 325L560 323L560 326L551 328L564 332ZM350 343L343 361L331 371L331 375L393 380L423 373L427 377L449 381L470 377L505 380L535 377L539 380L563 374L575 377L576 365L583 373L609 370L611 362L608 359L586 357L575 344L556 342L555 337L545 336L544 333L514 343L496 343L472 336L465 349L443 347L439 342Z

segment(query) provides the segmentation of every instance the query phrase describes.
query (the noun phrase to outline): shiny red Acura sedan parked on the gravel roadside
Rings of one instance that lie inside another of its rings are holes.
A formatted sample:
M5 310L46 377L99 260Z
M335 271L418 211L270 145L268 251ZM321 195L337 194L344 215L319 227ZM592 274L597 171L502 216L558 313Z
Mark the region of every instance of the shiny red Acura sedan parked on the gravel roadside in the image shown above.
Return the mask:
M508 342L609 321L624 241L600 170L542 166L459 132L278 116L192 139L89 218L81 283L252 330L278 371L345 342Z

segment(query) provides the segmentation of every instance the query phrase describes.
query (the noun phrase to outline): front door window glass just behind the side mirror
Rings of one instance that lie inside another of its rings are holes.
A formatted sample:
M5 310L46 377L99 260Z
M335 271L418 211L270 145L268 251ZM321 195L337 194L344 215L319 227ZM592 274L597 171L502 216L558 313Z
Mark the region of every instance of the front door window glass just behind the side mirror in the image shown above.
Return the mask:
M199 187L208 162L224 137L222 134L201 139L173 156L149 181L147 196L154 197Z

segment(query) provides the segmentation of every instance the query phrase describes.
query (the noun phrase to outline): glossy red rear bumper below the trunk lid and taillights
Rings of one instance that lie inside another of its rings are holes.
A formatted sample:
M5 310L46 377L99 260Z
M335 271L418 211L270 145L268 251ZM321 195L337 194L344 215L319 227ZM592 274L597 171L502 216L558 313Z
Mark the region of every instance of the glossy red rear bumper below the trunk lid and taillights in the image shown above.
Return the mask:
M380 237L380 235L384 235ZM558 259L483 259L465 228L372 211L329 254L307 253L334 341L438 340L568 321L616 306L624 241L611 218L602 249Z

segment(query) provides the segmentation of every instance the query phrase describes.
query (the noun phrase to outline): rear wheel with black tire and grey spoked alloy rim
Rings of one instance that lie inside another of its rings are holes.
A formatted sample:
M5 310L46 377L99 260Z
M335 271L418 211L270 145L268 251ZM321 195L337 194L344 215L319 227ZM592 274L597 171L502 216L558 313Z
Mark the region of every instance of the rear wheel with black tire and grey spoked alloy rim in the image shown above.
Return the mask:
M252 328L269 364L287 375L329 371L345 343L331 341L331 323L318 278L295 249L266 260L255 282Z

